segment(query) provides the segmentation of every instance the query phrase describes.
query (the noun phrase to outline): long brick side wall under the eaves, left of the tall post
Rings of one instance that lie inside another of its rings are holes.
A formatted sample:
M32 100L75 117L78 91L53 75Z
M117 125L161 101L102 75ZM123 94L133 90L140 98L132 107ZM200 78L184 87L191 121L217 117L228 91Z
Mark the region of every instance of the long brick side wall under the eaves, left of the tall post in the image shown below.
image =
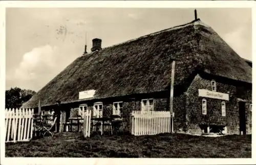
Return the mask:
M129 131L130 129L130 114L132 110L140 110L141 109L141 100L142 99L154 99L154 110L156 111L166 111L168 110L168 98L167 91L152 93L151 95L136 95L132 98L130 97L122 97L122 98L108 98L97 101L87 101L79 104L73 104L67 107L65 110L61 111L61 128L63 131L63 123L68 121L69 117L77 117L78 116L78 107L80 104L87 104L88 110L93 110L93 106L95 102L102 102L103 104L103 117L109 116L113 113L113 103L114 102L123 102L122 109L122 117L123 123L121 128L123 131Z

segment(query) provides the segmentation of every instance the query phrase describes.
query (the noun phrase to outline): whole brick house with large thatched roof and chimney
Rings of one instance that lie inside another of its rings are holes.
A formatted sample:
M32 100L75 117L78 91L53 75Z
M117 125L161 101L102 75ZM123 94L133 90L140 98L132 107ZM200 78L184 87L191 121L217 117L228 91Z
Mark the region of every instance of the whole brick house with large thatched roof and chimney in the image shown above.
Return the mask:
M108 48L101 49L101 40L93 39L91 53L73 61L23 108L37 107L40 100L43 109L54 109L59 101L65 105L60 108L60 127L69 117L92 110L94 117L120 116L127 130L133 110L170 110L175 113L175 132L250 133L251 69L213 29L195 18Z

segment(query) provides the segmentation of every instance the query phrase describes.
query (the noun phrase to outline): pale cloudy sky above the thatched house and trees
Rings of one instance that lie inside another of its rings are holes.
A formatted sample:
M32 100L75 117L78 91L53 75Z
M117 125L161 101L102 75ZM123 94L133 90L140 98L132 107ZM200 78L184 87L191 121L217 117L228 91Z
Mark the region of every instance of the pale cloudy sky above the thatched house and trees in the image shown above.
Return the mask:
M252 60L251 9L197 8L198 17ZM84 52L194 20L194 8L6 8L6 89L38 91ZM86 39L87 34L87 39Z

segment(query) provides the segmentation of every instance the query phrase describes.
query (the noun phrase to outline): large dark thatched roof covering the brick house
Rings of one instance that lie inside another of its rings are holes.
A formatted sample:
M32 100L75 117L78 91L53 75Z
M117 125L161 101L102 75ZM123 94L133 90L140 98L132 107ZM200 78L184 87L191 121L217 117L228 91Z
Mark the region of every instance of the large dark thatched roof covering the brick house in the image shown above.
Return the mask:
M39 98L42 106L73 102L90 89L96 99L166 90L172 59L175 85L198 69L251 83L251 67L198 19L77 58L23 107L36 107Z

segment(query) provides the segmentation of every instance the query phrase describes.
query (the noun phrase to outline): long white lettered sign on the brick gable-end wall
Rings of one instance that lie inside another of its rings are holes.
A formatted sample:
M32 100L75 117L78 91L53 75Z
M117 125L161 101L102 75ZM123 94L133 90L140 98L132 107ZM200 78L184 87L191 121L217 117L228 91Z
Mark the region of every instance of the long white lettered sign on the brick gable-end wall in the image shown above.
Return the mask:
M229 101L229 95L227 93L220 93L220 92L210 91L206 89L198 89L198 96Z

